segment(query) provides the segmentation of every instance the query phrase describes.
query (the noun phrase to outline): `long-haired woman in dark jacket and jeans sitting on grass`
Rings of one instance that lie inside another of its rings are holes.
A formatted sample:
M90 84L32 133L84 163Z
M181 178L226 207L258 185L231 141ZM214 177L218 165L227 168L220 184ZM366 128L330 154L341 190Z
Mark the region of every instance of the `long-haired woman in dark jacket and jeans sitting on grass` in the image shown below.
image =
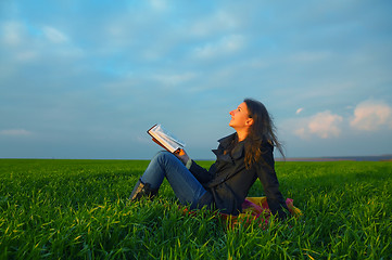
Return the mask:
M230 115L229 126L236 133L218 141L218 148L213 150L216 161L210 170L197 165L184 150L178 154L160 152L139 179L130 200L154 196L166 177L182 205L192 209L207 206L237 216L258 178L271 213L284 219L288 208L279 192L274 145L283 153L267 109L261 102L245 99Z

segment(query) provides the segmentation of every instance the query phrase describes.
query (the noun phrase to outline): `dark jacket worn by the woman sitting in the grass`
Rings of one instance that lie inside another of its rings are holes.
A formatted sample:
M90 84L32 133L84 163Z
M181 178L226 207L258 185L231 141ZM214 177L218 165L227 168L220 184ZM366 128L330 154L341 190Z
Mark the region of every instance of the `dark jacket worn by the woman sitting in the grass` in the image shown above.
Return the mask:
M258 178L263 184L265 196L271 212L279 213L284 219L286 202L279 192L279 182L275 172L274 146L265 141L262 143L262 159L254 162L250 169L244 164L244 142L239 142L231 153L224 154L236 133L218 140L217 150L213 150L216 161L210 170L192 161L190 171L200 183L212 194L213 204L224 213L237 216L241 212L241 205L253 183Z

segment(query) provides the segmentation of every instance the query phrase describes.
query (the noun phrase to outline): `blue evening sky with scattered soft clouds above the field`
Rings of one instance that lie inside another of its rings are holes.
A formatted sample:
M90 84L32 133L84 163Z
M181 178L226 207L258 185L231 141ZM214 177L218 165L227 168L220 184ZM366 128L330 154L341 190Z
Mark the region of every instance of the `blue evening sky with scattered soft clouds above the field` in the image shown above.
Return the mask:
M390 1L0 2L0 157L213 159L263 102L287 157L392 154ZM277 154L277 156L279 156Z

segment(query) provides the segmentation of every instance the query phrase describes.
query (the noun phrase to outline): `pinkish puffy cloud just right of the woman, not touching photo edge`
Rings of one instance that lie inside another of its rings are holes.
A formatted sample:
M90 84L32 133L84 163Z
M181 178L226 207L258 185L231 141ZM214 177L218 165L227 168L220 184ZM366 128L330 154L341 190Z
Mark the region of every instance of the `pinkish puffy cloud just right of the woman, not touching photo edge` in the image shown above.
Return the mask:
M318 113L312 117L295 120L293 132L302 139L309 139L317 135L321 139L339 136L341 129L340 123L343 118L332 114L330 110Z

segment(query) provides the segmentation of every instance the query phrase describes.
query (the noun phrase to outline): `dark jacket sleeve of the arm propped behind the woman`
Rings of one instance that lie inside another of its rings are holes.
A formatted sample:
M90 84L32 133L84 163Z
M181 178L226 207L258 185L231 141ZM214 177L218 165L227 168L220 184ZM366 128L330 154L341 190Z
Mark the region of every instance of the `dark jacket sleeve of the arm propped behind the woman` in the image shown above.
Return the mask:
M273 146L264 147L264 154L261 161L256 166L260 181L262 182L267 203L273 214L278 213L280 219L286 219L288 210L284 198L279 191L279 182L275 172L275 160L273 155Z

